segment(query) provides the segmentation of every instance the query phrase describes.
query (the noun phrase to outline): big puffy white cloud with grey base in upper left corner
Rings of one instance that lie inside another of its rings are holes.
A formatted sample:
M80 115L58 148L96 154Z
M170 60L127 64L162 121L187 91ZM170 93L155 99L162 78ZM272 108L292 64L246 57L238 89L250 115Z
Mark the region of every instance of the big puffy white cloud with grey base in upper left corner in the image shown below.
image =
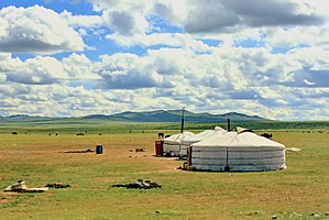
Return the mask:
M56 12L40 6L0 10L0 51L57 53L84 50L79 34Z

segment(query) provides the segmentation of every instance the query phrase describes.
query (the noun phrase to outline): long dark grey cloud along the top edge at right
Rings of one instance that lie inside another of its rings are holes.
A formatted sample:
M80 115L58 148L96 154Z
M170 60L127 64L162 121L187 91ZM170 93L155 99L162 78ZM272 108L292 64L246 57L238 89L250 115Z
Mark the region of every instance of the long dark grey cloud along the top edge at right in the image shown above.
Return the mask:
M243 28L322 24L306 3L271 0L158 1L155 11L189 33L232 32Z

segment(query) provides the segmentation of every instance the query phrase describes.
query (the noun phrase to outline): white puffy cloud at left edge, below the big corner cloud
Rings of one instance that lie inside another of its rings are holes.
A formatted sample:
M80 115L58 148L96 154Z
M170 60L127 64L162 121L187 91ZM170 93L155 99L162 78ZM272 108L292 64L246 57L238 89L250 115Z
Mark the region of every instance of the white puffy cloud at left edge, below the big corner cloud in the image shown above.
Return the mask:
M36 56L21 61L10 54L0 54L0 80L3 84L25 85L72 84L81 86L99 80L94 63L86 55L72 54L62 61L50 56Z

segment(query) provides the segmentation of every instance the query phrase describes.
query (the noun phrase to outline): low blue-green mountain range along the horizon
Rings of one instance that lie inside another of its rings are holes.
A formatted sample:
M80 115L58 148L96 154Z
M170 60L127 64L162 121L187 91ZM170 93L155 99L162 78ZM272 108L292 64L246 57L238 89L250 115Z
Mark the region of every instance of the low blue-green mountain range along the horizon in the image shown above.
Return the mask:
M0 117L0 121L6 122L22 122L22 121L56 121L64 118L51 117L30 117L28 114L15 114L10 117ZM67 119L67 118L65 118ZM97 121L123 121L123 122L179 122L182 119L182 110L157 110L132 112L127 111L111 116L105 114L90 114L81 118L69 118L70 120L97 120ZM211 113L194 113L185 111L184 119L186 122L226 122L228 119L232 121L267 121L267 119L257 116L246 116L243 113L229 112L223 114Z

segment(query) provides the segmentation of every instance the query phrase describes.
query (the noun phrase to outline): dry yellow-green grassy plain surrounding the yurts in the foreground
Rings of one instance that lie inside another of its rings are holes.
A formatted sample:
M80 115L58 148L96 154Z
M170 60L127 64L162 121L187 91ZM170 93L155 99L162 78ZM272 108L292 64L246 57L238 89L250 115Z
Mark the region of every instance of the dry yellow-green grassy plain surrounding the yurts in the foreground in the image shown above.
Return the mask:
M285 170L253 173L176 169L182 161L154 156L157 132L174 133L172 129L169 124L131 123L2 125L0 189L18 179L29 187L56 182L72 187L29 195L1 190L0 219L271 219L274 215L278 219L329 219L327 125L266 130L286 147L303 151L287 153ZM19 135L11 135L12 130ZM85 130L85 135L75 135ZM103 145L103 154L63 153L97 144ZM135 147L146 151L131 151ZM163 187L111 187L139 178Z

